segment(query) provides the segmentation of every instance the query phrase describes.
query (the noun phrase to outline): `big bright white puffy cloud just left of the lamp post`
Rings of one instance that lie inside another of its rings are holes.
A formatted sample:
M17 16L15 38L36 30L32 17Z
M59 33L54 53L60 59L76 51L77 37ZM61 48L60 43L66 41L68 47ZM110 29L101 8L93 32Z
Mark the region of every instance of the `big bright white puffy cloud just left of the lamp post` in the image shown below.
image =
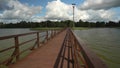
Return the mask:
M65 20L69 19L69 14L71 14L71 6L67 5L60 0L48 2L46 6L46 19L50 20Z

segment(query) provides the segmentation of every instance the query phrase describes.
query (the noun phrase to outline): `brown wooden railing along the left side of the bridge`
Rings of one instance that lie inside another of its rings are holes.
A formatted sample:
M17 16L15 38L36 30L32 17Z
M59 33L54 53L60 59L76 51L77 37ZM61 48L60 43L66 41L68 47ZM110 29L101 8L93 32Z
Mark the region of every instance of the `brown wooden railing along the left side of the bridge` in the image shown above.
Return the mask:
M30 32L30 33L25 33L25 34L18 34L18 35L11 35L11 36L5 36L5 37L0 37L0 41L1 40L6 40L6 39L14 39L14 46L5 48L5 49L0 49L0 53L4 53L6 51L9 51L11 49L14 49L14 51L12 52L11 56L9 58L7 58L4 61L0 61L0 65L9 65L11 63L13 63L13 61L18 61L20 59L20 55L28 50L33 50L35 48L38 48L40 46L42 46L41 44L45 43L47 40L53 38L55 35L57 35L58 33L60 33L62 30L48 30L48 31L44 31L44 34L41 35L43 32ZM19 38L24 36L28 36L28 35L35 35L36 37L34 37L33 39L24 41L20 43ZM41 38L43 38L43 40L40 40ZM29 42L34 42L34 45L28 47L27 49L24 50L20 50L20 46L23 46L24 44L27 44ZM7 43L7 41L6 41ZM1 45L0 45L1 46ZM1 54L2 55L2 54ZM4 56L2 56L4 57Z

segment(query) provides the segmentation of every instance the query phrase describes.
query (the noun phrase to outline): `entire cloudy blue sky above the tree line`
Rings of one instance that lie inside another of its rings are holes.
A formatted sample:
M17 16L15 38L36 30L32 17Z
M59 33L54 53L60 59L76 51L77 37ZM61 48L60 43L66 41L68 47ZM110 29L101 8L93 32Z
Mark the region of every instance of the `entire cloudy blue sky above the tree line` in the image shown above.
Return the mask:
M0 0L0 22L119 21L120 0Z

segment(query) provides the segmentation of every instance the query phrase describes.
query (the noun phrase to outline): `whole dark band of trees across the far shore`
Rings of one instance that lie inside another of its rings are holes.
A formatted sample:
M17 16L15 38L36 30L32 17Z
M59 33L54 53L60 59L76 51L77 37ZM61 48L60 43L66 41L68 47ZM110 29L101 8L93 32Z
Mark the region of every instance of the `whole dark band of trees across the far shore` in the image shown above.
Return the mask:
M65 20L65 21L42 21L42 22L26 22L21 21L18 23L3 23L0 22L0 28L36 28L36 27L120 27L120 21L114 22L88 22L88 21L82 21L79 20L79 22L75 22L73 24L73 21L71 20Z

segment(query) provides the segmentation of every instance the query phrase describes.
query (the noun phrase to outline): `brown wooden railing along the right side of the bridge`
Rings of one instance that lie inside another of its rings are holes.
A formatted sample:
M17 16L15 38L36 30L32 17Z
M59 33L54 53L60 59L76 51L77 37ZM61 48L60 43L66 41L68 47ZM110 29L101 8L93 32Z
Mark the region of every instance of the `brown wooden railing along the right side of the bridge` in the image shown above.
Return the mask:
M108 68L107 65L100 58L98 58L94 52L89 50L86 45L79 40L71 29L69 29L69 33L72 39L71 42L73 44L74 56L76 56L76 59L79 58L82 62L82 64L80 64L78 59L74 59L77 61L75 63L76 68L79 68L78 66L83 66L85 68Z

